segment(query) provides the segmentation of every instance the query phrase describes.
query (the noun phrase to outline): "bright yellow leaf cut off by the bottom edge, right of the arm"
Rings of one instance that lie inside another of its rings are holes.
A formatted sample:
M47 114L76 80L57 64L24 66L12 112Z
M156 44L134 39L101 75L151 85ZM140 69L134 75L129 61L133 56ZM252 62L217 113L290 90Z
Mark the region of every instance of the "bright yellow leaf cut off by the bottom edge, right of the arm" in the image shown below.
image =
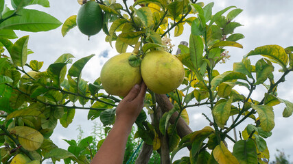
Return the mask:
M213 157L219 164L229 163L238 164L236 157L226 148L223 141L213 150Z

